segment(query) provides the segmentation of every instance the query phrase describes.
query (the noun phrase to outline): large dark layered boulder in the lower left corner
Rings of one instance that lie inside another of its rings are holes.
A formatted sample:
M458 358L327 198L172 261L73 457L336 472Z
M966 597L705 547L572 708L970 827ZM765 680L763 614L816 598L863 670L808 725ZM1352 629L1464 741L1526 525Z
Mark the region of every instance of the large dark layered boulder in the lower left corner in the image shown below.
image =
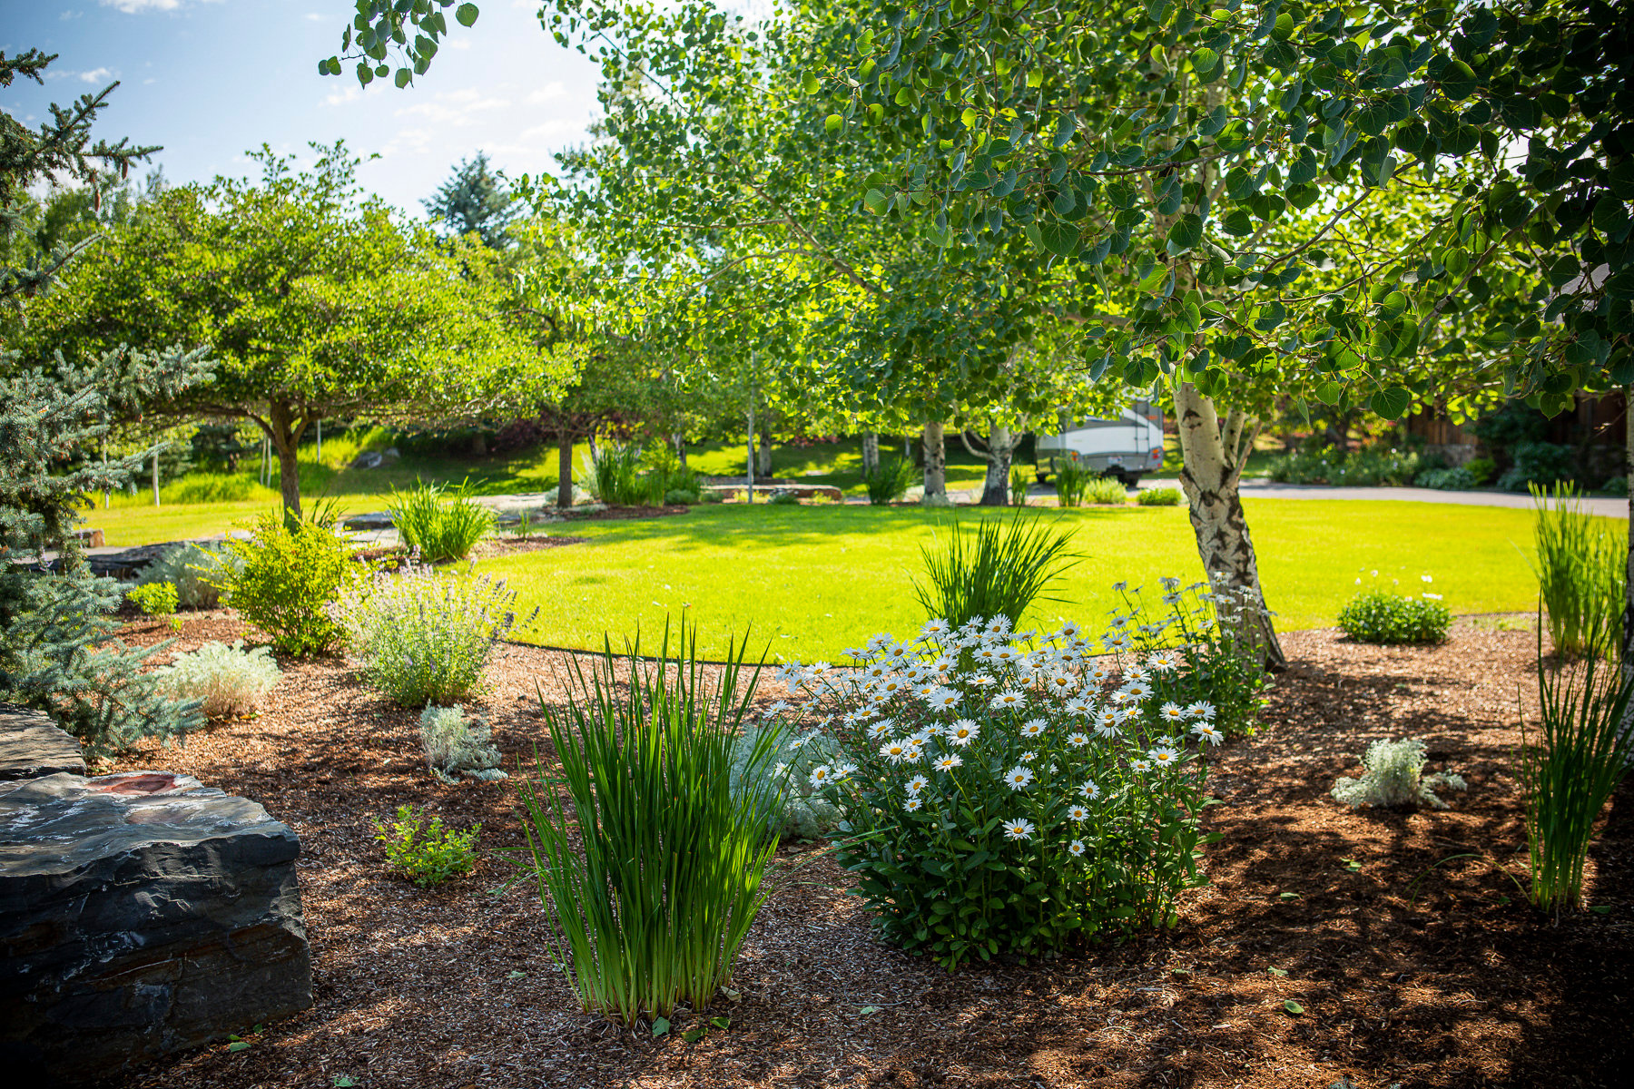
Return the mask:
M0 782L0 1063L83 1082L312 1004L294 831L173 772Z

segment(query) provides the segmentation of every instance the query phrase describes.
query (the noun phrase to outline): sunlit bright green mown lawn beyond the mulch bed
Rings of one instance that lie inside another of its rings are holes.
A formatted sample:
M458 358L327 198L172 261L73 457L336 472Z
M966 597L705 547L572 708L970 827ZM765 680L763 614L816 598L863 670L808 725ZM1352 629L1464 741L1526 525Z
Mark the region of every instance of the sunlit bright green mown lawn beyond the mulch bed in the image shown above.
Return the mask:
M1516 545L1531 514L1503 508L1399 501L1248 500L1266 598L1284 630L1328 627L1355 580L1397 578L1404 593L1433 589L1454 612L1526 611L1536 585ZM998 516L962 511L962 519ZM1114 604L1111 583L1201 576L1185 508L1047 511L1077 527L1087 553L1064 602L1038 622L1096 624ZM923 620L912 591L920 544L944 511L859 506L712 506L685 516L574 526L580 545L480 563L539 607L536 642L600 647L665 617L699 625L708 655L753 625L786 660L835 658L874 632ZM1420 576L1430 573L1433 586Z

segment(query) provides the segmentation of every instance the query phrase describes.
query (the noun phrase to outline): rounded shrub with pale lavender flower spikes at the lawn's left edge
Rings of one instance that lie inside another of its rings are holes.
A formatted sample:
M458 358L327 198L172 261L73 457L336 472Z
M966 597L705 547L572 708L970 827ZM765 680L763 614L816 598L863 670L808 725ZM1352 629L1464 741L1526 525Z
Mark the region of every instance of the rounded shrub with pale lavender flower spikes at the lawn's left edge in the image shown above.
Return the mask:
M348 589L332 616L363 676L400 707L475 694L493 643L516 625L516 593L487 575L430 567L379 573Z

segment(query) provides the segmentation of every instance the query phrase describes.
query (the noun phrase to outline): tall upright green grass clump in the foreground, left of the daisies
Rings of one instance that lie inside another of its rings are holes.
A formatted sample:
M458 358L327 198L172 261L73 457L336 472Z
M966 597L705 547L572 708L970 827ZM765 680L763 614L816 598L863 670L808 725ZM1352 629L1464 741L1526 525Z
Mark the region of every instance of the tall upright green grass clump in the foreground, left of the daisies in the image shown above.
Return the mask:
M541 697L562 772L541 761L523 785L523 829L587 1011L629 1025L703 1009L730 981L784 789L776 717L734 759L758 674L742 645L706 669L683 627L652 660L608 647L588 669L575 661L565 707Z

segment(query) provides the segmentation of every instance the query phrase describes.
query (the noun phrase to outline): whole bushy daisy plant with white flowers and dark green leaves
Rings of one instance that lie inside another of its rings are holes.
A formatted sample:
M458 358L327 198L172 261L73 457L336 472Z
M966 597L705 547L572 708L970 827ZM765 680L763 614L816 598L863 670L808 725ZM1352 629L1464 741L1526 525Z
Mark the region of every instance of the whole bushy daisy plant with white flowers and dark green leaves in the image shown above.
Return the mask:
M951 970L1178 921L1224 735L1206 702L1159 696L1178 653L1101 643L1111 660L1075 624L938 619L846 651L855 669L784 669L838 749L807 782L886 940Z

